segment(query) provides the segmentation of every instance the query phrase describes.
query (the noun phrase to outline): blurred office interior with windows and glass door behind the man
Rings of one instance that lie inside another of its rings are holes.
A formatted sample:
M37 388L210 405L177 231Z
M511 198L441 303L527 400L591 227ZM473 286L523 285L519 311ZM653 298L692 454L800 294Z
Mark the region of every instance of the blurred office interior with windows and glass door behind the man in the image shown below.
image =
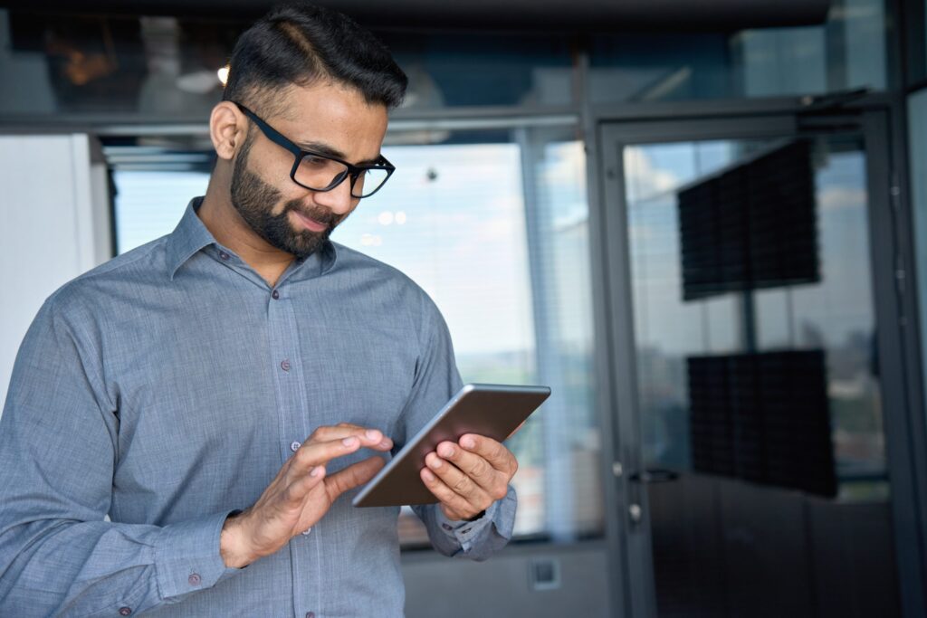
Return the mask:
M927 615L924 0L320 4L410 77L333 239L464 381L553 392L502 555L403 512L408 615ZM44 298L205 192L268 6L0 2L0 397Z

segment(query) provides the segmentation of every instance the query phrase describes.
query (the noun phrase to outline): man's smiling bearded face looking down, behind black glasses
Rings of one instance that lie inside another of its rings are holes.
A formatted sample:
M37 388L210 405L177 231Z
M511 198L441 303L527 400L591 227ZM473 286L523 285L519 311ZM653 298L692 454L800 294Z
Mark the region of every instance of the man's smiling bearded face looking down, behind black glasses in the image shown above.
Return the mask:
M357 91L333 83L292 88L284 95L288 113L254 113L303 149L357 163L379 156L387 130L387 110L368 105ZM243 117L244 118L244 117ZM249 121L248 121L249 122ZM350 179L327 192L311 191L289 176L293 155L274 144L257 126L235 157L232 205L269 245L296 258L315 252L332 230L357 208Z

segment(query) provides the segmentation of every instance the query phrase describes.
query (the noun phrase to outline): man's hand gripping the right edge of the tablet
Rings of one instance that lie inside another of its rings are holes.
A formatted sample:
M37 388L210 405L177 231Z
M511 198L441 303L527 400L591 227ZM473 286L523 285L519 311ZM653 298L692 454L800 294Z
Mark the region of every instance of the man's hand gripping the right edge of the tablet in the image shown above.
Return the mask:
M472 519L505 498L518 461L501 442L483 435L463 435L442 442L425 456L421 476L451 521Z

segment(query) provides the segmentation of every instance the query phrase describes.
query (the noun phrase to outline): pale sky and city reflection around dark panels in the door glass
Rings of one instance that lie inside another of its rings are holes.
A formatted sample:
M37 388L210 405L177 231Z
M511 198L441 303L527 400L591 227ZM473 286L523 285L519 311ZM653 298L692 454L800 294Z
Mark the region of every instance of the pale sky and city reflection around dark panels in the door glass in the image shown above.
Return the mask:
M816 145L820 280L756 289L750 295L755 349L748 348L744 321L749 314L741 294L683 300L679 188L780 146L739 141L626 149L645 452L654 466L691 469L685 359L822 349L841 497L864 497L859 484L883 496L887 482L873 348L865 155L858 145L837 140Z

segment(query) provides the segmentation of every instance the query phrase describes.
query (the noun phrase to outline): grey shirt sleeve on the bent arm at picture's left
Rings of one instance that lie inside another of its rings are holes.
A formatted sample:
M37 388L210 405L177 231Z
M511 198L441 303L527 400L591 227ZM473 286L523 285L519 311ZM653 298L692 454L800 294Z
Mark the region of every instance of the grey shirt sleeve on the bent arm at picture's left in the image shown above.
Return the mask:
M219 552L228 512L104 521L118 408L98 346L56 296L19 348L0 417L0 615L132 615L238 573Z

